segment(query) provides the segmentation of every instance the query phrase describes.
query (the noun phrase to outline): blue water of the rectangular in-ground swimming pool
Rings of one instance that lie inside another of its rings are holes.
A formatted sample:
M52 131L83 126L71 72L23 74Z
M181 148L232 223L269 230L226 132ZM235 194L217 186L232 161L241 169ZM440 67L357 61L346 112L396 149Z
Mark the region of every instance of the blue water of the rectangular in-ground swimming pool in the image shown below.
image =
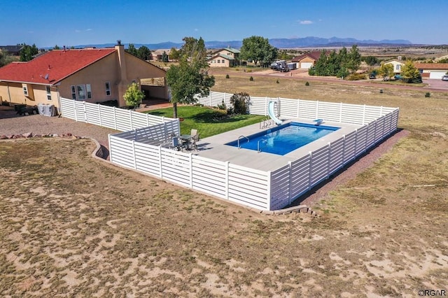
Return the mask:
M250 150L258 150L258 146L260 146L261 152L286 155L297 148L320 139L322 136L335 132L339 128L289 122L286 125L279 125L267 131L247 136L249 140L240 138L239 146ZM238 141L232 141L225 145L237 147Z

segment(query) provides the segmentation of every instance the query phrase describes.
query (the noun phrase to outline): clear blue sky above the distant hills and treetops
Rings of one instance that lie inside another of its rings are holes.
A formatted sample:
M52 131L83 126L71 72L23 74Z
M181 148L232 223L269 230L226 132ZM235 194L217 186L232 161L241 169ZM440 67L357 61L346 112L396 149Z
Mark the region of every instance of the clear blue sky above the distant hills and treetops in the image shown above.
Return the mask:
M3 2L3 1L2 1ZM4 1L0 45L339 37L448 44L447 0Z

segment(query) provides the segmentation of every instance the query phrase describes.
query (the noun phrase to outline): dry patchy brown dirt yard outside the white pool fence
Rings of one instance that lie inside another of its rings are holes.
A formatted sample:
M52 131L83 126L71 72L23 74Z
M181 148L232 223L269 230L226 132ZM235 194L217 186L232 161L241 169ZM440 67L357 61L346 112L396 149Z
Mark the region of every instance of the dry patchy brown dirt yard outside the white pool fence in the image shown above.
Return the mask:
M0 295L448 291L447 94L262 80L216 88L399 106L406 134L365 170L334 180L314 202L319 216L253 213L95 159L88 139L0 141Z

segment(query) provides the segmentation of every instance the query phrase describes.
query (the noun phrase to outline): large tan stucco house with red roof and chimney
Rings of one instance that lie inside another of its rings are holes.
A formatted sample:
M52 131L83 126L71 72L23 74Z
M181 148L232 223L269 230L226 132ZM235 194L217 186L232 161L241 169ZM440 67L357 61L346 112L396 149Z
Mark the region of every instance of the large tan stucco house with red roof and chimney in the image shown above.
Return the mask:
M59 98L92 103L117 100L125 106L127 86L142 79L163 78L165 71L114 48L51 50L29 62L12 62L0 68L0 97L13 104L53 104ZM154 86L151 97L167 99L166 84Z

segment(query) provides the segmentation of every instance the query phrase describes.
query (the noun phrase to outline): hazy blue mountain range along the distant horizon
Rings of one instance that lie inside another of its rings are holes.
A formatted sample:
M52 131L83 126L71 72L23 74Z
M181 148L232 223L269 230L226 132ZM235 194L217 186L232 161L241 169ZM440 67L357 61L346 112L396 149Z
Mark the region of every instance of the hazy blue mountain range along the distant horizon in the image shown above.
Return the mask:
M351 45L377 45L377 46L387 46L387 45L412 45L410 41L406 41L404 39L395 39L395 40L381 40L381 41L373 41L373 40L363 40L360 41L355 38L321 38L308 36L303 38L271 38L269 39L269 43L276 48L309 48L309 47L342 47L342 46L351 46ZM128 43L123 43L125 47L127 47ZM75 48L85 48L85 47L95 47L95 48L109 48L113 47L114 43L104 43L97 45L75 45ZM158 50L158 49L170 49L170 48L181 48L183 43L172 43L171 41L167 41L165 43L134 43L136 48L141 47L142 45L146 45L150 50ZM242 41L206 41L206 48L227 48L228 46L232 48L241 48Z

